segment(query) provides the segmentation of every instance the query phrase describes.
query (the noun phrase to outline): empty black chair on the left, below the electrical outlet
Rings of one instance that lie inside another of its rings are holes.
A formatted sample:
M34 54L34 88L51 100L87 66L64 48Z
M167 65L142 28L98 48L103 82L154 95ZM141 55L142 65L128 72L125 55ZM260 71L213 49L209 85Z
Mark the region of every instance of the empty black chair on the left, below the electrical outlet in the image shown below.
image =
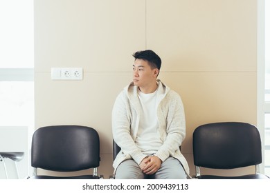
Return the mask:
M30 179L100 179L98 132L93 128L80 125L39 128L33 134L31 165L35 171ZM37 168L57 172L75 172L93 168L93 174L46 176L37 175Z

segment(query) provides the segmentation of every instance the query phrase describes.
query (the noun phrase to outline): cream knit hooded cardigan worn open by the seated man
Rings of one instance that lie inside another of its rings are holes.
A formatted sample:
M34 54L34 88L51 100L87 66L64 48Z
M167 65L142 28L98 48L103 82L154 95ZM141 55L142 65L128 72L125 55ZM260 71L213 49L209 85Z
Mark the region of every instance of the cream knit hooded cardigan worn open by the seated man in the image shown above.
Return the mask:
M169 156L178 159L189 174L188 163L179 150L186 136L186 120L181 97L160 80L157 80L157 83L159 84L157 90L158 132L163 145L154 155L161 161L165 161ZM141 113L138 87L132 82L118 94L112 110L112 133L114 141L121 148L113 163L114 172L126 159L134 159L139 164L146 156L134 143Z

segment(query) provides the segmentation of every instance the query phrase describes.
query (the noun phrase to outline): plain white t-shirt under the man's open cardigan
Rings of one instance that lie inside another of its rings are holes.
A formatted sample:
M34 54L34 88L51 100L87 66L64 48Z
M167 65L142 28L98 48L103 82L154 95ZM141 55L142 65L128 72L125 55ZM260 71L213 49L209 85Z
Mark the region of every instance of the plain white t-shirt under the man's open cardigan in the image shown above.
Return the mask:
M158 119L156 115L157 101L156 91L145 94L138 91L138 98L141 101L143 114L138 127L135 143L143 154L154 154L162 145L158 132Z

